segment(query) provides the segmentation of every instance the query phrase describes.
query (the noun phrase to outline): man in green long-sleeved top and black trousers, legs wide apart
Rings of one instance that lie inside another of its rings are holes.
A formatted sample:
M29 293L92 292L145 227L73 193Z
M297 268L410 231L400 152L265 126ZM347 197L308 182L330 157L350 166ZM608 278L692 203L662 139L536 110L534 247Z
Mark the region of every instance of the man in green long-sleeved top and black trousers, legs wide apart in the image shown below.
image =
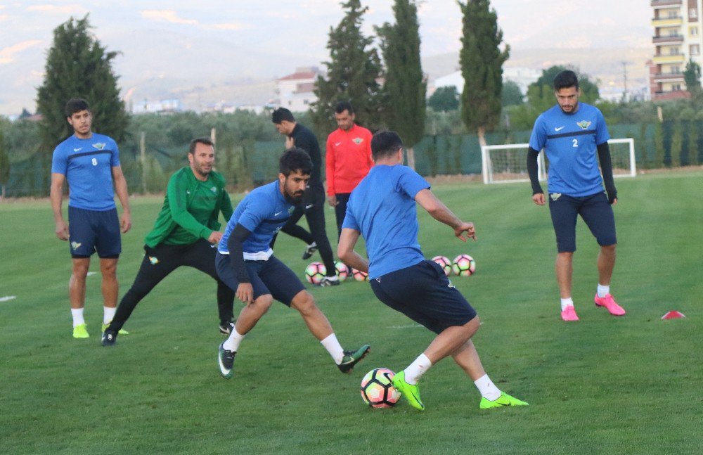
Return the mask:
M169 180L166 197L154 229L146 236L146 255L134 284L122 297L110 326L104 328L102 345L115 344L117 333L134 307L172 271L187 265L204 271L217 280L219 330L229 335L232 329L234 291L220 281L215 270L214 246L220 241L219 214L232 216L232 203L225 190L224 177L212 166L215 150L206 138L193 139L188 150L189 165Z

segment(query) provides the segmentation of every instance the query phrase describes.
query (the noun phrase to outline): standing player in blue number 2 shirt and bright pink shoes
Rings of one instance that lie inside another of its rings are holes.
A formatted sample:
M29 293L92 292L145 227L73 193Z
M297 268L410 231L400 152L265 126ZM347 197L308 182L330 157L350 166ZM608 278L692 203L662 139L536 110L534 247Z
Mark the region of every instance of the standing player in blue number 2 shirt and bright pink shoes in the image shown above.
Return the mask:
M544 205L545 197L537 178L537 156L544 149L549 160L549 211L557 237L555 271L564 321L578 321L572 300L572 260L576 251L576 217L581 215L598 245L597 307L622 316L625 310L610 294L615 267L615 217L617 204L605 119L598 108L579 102L579 79L570 70L554 78L557 104L537 117L529 140L527 170L532 200ZM598 155L598 160L596 160ZM602 169L602 177L598 170ZM605 191L603 184L605 183Z

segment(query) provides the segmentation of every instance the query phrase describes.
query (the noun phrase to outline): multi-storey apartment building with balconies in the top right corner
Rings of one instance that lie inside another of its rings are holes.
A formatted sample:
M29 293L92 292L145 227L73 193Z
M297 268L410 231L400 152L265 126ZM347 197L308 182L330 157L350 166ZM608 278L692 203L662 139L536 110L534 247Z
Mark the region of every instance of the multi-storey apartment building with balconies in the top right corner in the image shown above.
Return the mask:
M654 57L650 64L652 99L688 96L683 72L689 60L703 67L703 0L651 0Z

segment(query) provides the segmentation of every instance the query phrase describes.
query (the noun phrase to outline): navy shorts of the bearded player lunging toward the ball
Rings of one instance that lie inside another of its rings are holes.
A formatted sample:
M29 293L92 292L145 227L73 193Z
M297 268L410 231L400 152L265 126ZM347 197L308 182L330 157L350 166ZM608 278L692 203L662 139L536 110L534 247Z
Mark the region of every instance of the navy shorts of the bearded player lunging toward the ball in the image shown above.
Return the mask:
M244 261L249 279L254 288L254 300L266 294L271 294L278 302L290 307L293 297L305 289L294 271L288 268L276 257L269 257L268 261ZM229 255L217 252L215 267L220 279L232 290L237 290L239 281L234 274Z

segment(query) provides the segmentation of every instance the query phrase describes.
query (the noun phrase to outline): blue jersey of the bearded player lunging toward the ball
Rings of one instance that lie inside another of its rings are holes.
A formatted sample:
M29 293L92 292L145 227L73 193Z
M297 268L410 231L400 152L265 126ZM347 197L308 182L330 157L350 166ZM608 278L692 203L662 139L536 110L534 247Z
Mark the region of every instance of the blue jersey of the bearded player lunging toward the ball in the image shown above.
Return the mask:
M235 226L241 224L251 232L242 245L245 259L268 259L273 236L288 221L294 208L280 192L278 180L259 186L237 205L217 250L224 255L229 254L229 236Z

